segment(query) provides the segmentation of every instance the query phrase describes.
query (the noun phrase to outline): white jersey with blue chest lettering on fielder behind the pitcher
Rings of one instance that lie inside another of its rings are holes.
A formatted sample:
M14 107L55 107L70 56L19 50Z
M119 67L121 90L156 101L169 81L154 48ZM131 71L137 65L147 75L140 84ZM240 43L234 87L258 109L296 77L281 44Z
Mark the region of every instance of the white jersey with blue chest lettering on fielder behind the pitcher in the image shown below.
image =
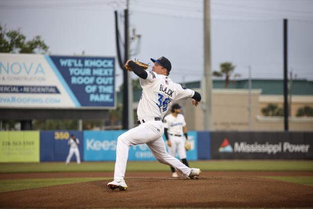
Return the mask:
M183 135L183 127L186 126L185 118L182 114L177 114L175 118L172 114L165 116L164 128L167 129L168 134Z

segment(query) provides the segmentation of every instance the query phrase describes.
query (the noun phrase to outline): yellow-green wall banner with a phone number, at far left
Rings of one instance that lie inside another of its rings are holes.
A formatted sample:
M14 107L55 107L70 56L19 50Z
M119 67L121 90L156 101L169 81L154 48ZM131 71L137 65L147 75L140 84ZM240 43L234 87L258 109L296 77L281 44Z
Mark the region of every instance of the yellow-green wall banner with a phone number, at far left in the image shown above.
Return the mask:
M39 132L0 132L0 162L39 162Z

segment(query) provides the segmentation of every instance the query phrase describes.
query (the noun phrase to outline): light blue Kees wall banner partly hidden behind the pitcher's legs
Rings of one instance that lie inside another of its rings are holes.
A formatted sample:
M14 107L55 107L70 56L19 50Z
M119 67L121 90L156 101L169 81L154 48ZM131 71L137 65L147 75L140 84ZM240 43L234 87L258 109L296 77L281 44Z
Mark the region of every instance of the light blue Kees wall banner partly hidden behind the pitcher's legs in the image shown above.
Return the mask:
M117 138L125 131L84 131L85 161L114 161L116 159ZM197 160L197 132L188 132L191 150L187 152L188 160ZM177 156L178 157L178 156ZM156 160L146 144L129 147L128 160Z

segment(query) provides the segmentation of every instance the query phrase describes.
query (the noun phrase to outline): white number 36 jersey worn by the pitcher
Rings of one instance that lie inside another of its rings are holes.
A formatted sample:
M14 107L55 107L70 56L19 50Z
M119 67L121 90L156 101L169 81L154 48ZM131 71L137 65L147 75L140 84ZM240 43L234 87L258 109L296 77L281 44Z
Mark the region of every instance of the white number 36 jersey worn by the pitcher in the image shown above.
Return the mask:
M140 78L143 88L138 104L138 120L159 117L161 120L172 104L193 97L195 92L174 83L168 76L148 71L146 79Z

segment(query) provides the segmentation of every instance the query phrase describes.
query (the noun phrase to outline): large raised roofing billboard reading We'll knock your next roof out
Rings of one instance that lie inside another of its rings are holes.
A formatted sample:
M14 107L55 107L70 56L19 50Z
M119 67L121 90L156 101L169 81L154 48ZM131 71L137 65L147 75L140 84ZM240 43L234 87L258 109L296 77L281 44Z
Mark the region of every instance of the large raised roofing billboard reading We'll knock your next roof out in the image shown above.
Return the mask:
M114 58L0 53L0 108L112 108Z

